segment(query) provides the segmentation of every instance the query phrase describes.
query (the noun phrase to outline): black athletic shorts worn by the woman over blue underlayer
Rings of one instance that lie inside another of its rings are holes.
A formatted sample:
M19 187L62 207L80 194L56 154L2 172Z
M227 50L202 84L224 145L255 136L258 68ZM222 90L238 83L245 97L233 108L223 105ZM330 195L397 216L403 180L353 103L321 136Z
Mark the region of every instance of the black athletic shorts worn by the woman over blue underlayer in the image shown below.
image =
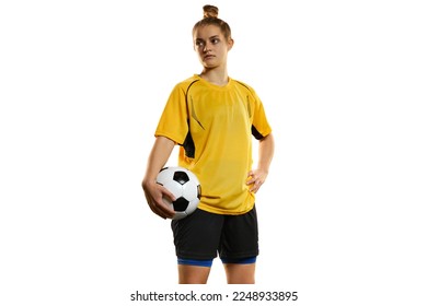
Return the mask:
M173 220L176 256L182 259L227 260L258 255L258 225L255 207L240 215L209 213L197 209L187 217Z

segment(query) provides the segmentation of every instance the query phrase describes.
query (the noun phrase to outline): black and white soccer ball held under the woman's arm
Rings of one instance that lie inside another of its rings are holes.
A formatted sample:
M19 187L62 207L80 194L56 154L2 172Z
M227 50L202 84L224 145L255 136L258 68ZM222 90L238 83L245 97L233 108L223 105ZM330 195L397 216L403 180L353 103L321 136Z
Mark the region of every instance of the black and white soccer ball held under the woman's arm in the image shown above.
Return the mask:
M163 198L174 211L173 220L186 217L193 213L200 201L200 183L197 176L183 167L165 167L160 170L157 184L171 191L176 200L171 202Z

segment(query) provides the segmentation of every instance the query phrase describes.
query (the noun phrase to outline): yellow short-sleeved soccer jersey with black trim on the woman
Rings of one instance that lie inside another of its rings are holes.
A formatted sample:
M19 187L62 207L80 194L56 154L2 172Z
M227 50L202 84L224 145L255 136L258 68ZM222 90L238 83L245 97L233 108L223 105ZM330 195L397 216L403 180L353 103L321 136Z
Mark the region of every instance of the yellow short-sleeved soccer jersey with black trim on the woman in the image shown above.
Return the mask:
M252 131L257 138L272 132L252 87L233 79L226 86L217 86L194 75L173 89L155 136L181 145L178 165L200 181L199 209L242 214L255 201L245 184L253 162ZM188 133L194 145L186 141Z

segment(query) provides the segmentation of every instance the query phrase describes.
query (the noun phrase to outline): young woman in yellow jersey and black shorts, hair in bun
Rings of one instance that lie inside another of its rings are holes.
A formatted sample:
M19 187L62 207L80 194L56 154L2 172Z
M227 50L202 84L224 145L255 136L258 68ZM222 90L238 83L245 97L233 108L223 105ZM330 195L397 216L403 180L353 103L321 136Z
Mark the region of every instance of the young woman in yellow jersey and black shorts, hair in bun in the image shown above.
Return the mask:
M216 7L204 7L193 40L203 71L173 89L155 130L142 189L155 214L173 216L162 201L174 200L173 195L155 184L155 177L178 144L178 165L195 173L201 186L198 209L172 221L178 283L207 283L219 255L228 283L251 284L258 255L255 192L273 158L272 128L255 91L228 75L227 55L234 42ZM254 169L253 137L259 141Z

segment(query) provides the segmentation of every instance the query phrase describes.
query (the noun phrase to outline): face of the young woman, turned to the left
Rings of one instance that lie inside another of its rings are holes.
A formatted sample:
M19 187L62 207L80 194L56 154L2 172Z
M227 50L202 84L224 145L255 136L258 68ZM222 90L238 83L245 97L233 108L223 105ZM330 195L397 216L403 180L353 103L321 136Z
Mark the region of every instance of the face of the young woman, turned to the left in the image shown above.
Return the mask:
M194 49L205 68L226 67L227 54L233 46L233 40L231 38L227 40L218 26L198 27L194 33L193 40Z

